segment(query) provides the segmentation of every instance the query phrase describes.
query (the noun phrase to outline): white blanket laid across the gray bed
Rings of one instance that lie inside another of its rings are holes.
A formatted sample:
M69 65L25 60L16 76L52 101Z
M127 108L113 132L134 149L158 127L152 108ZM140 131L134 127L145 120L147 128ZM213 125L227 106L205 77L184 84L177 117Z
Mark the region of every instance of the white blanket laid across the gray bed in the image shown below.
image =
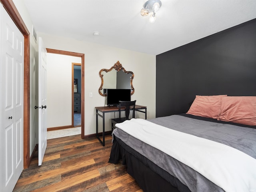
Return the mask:
M256 192L256 159L235 148L143 119L116 126L190 166L226 192Z

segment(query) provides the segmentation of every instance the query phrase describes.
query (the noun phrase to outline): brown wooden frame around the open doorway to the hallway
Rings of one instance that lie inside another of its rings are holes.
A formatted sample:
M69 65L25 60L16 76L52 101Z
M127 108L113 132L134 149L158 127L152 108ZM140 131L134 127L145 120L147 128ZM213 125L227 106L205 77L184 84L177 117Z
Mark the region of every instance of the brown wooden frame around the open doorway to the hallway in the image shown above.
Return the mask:
M48 53L81 57L81 138L84 139L84 54L46 48ZM74 112L73 112L74 113ZM74 117L73 117L74 118ZM73 120L74 121L74 120ZM73 122L74 124L74 122Z

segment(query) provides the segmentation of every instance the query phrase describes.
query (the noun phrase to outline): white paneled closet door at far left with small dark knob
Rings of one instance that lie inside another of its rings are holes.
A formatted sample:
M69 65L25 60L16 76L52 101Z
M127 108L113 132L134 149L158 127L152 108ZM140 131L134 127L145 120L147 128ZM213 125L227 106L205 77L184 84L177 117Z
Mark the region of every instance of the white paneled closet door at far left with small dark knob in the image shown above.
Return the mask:
M24 36L0 6L0 191L14 189L23 170Z

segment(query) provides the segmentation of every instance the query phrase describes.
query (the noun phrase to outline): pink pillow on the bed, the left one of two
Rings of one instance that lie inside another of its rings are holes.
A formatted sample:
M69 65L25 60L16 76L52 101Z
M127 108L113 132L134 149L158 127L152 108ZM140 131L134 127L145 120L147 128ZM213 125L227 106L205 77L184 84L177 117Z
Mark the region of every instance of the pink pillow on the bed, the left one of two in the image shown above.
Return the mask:
M199 96L196 98L187 114L214 118L217 119L220 116L221 98L227 95L213 95L213 96Z

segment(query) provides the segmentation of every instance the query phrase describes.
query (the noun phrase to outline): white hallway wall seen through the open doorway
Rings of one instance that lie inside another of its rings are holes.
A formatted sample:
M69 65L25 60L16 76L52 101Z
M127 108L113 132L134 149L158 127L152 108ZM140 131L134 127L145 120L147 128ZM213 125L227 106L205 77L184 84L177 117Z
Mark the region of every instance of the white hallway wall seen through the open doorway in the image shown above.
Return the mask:
M72 62L81 57L47 53L47 128L72 124Z

